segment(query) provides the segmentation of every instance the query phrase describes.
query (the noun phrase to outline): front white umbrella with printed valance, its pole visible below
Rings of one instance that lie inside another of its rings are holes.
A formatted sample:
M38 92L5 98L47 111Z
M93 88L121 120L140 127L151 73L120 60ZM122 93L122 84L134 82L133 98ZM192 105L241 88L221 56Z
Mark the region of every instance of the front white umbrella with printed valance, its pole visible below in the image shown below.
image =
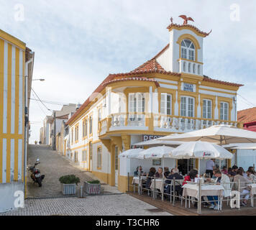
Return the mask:
M173 157L180 159L198 159L198 171L200 172L200 159L232 159L231 152L218 144L209 142L186 142L173 149Z

